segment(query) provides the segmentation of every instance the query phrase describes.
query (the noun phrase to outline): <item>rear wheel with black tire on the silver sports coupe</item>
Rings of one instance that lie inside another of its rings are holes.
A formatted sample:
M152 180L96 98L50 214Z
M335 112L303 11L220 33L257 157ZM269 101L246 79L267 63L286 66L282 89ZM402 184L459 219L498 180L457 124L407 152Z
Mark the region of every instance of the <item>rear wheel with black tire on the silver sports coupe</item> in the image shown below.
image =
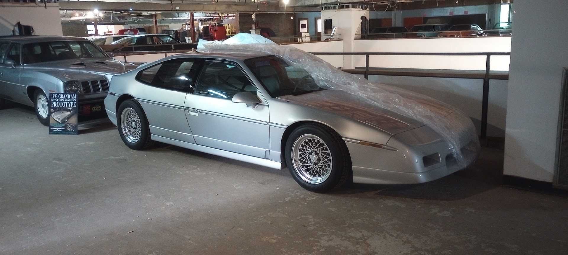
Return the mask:
M116 125L120 138L132 150L144 150L153 145L148 119L136 100L128 99L120 104Z

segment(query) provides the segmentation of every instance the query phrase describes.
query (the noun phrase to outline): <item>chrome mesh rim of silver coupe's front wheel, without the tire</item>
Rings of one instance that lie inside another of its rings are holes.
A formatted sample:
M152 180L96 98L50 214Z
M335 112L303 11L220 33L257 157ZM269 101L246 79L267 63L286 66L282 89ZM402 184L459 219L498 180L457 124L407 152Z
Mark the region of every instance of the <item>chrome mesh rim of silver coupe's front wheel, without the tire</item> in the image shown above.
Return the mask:
M292 147L292 163L300 178L310 184L327 180L333 167L329 147L312 134L304 134L296 139Z

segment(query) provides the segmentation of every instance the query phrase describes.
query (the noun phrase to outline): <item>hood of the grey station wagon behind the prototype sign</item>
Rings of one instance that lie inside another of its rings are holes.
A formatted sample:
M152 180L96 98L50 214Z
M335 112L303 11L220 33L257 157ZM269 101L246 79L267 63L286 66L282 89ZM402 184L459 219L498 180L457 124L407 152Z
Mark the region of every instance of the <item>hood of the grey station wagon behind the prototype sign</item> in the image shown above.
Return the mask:
M124 63L111 58L66 59L26 65L28 68L31 67L39 70L79 71L97 74L122 74L136 67L133 66L129 68L129 66L130 65L125 65Z

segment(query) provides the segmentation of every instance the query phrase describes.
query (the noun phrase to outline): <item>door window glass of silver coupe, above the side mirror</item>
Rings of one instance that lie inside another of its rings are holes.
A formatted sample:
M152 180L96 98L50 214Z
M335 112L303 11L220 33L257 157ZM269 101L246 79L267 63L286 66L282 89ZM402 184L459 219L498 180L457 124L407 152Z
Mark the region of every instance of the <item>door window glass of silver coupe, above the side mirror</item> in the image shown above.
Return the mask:
M243 70L234 63L206 62L195 84L194 94L231 99L239 92L255 92Z

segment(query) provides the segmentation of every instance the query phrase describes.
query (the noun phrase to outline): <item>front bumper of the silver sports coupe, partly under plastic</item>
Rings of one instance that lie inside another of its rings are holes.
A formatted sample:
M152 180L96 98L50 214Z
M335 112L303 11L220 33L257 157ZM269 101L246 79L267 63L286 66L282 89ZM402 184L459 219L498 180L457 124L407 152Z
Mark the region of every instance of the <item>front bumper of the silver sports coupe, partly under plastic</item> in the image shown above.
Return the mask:
M411 137L414 140L409 141ZM428 182L466 168L479 155L479 141L471 139L462 142L465 145L460 148L458 162L448 143L427 126L393 136L387 145L396 150L345 143L351 155L353 182L363 184Z

